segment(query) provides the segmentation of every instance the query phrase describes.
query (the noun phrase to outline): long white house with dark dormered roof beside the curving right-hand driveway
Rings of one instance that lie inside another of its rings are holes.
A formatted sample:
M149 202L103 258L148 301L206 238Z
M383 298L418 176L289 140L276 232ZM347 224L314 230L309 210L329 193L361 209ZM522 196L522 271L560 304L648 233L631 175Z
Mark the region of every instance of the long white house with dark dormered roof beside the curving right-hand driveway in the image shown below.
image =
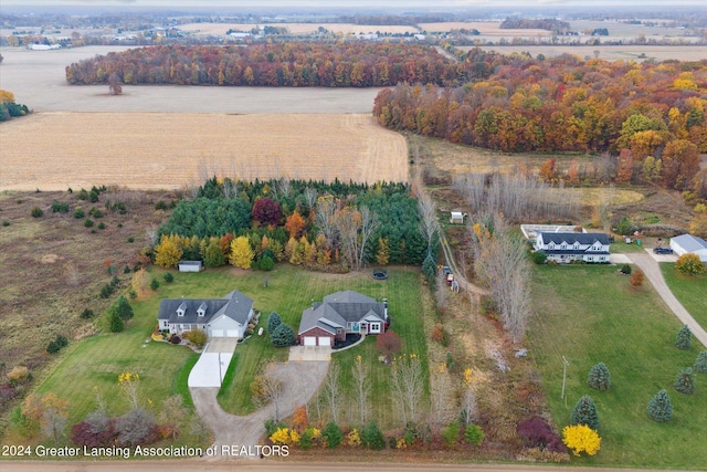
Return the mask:
M560 264L609 263L609 237L604 233L541 232L535 240L535 249L545 252L548 261Z

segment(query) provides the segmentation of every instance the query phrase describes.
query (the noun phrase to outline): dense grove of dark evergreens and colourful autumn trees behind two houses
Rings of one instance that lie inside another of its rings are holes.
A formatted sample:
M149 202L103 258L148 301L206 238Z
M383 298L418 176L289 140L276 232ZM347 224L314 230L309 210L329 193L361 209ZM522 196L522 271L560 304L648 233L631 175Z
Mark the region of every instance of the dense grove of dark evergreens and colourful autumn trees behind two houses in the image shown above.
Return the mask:
M210 179L159 229L157 265L201 260L271 270L275 262L356 270L418 264L429 241L403 183Z

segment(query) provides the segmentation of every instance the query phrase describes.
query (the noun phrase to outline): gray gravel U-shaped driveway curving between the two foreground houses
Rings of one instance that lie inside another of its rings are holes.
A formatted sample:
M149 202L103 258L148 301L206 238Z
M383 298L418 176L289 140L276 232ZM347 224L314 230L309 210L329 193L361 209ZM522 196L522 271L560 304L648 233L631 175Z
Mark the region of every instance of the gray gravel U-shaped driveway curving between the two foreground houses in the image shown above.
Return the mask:
M279 418L286 418L293 411L305 405L319 389L329 370L326 360L295 361L285 364L271 364L267 370L284 384L282 400L279 401ZM190 388L191 398L201 419L213 430L217 447L215 459L230 459L223 454L222 447L260 444L260 438L265 432L266 419L275 417L273 403L256 412L239 417L229 415L221 409L217 400L218 388Z

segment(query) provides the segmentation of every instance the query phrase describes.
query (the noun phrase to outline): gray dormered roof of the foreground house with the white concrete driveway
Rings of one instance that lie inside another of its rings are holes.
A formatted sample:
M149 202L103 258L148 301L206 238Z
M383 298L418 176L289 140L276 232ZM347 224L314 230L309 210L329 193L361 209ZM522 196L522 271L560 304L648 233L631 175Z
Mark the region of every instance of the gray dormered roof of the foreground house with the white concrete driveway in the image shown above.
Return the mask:
M252 307L253 301L235 290L222 298L162 298L157 319L205 324L217 316L226 315L245 325ZM200 308L205 310L204 316L197 313ZM184 315L179 316L178 310L182 310Z

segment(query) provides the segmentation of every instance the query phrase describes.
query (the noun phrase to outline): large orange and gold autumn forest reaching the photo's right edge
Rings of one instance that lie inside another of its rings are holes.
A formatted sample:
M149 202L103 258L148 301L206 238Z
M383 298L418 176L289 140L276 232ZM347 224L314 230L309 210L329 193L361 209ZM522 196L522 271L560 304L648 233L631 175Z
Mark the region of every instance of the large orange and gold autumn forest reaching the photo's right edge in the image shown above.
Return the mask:
M625 149L631 155L624 164L629 180L680 190L699 170L698 154L707 150L707 61L582 62L569 54L538 60L478 49L460 53L460 59L472 82L386 88L373 106L379 123L510 153L618 156ZM648 157L653 162L644 172ZM658 159L663 170L656 170ZM667 161L671 171L665 170Z

